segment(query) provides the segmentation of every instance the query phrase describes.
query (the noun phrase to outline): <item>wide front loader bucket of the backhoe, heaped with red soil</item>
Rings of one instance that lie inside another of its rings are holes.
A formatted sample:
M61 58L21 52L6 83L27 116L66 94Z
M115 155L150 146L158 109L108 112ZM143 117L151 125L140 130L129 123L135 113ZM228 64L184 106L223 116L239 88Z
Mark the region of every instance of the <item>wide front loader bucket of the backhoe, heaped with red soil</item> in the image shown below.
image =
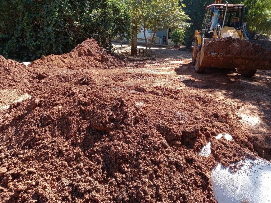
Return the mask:
M271 70L271 41L240 38L204 38L201 67Z

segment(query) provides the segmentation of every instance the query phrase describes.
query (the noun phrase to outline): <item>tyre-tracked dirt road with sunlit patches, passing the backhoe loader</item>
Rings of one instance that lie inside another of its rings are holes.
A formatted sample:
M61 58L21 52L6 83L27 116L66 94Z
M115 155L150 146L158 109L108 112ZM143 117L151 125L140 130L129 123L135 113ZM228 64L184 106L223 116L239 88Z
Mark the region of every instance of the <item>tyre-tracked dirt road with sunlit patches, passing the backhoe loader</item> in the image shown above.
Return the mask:
M128 47L123 45L121 48L115 43L115 48L127 50ZM138 63L135 70L130 70L160 78L155 84L145 80L143 86L158 84L205 93L235 109L240 117L238 125L248 130L254 150L262 158L271 160L271 71L258 70L252 78L242 77L234 70L218 68L207 68L205 74L198 74L191 64L192 52L174 48L154 47L151 57L158 60Z

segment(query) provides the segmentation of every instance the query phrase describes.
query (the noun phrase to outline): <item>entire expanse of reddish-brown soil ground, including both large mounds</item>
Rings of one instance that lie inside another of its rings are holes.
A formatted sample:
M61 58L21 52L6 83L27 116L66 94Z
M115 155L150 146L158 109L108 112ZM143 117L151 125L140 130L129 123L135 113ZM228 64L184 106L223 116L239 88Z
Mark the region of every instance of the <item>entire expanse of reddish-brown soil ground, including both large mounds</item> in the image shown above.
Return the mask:
M218 162L270 160L270 71L196 74L191 55L0 56L0 202L215 202Z

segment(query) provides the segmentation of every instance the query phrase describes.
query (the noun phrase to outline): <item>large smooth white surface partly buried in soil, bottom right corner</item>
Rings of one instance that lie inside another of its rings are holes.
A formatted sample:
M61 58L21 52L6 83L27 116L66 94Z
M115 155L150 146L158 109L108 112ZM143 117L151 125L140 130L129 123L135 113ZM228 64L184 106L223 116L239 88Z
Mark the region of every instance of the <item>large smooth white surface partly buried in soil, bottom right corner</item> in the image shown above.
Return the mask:
M231 173L220 163L212 170L211 180L218 203L270 203L271 163L264 159L240 161L241 169Z

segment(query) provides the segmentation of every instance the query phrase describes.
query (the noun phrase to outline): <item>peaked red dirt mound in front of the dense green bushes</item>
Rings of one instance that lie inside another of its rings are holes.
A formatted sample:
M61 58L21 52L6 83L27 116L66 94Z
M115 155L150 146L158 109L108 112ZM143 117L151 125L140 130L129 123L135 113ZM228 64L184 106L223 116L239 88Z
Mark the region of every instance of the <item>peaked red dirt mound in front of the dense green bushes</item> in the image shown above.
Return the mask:
M29 66L23 66L17 61L6 60L0 56L0 87L20 89L33 95L35 91L43 91L48 85L54 85L56 81L69 82L80 79L74 78L75 70L83 72L83 69L115 69L124 65L118 58L107 54L91 38L77 45L70 53L43 56Z

